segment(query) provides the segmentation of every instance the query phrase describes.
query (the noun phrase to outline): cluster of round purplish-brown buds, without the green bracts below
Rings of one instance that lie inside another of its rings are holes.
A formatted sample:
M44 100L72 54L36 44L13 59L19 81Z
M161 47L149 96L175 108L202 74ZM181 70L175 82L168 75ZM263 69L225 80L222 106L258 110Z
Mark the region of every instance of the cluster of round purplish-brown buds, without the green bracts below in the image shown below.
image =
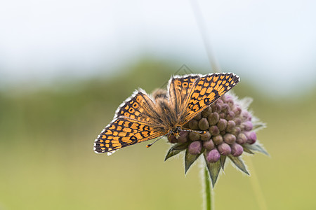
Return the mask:
M243 145L254 144L257 137L251 131L251 113L236 102L230 94L225 94L183 126L192 132L182 131L178 139L171 135L169 141L173 144L188 142L188 153L205 153L207 162L217 162L220 155L242 155ZM195 131L204 131L204 134Z

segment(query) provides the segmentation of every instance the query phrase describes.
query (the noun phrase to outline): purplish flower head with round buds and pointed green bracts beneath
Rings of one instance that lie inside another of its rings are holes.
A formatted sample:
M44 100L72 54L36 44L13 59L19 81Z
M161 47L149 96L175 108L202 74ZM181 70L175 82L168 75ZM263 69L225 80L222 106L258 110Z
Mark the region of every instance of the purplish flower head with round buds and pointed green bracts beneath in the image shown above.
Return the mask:
M162 94L165 94L163 90L153 93L154 97L161 97ZM251 102L249 98L237 99L231 93L220 97L183 126L183 130L191 132L181 131L178 138L173 135L168 137L173 146L165 160L185 151L186 173L195 160L203 155L213 186L220 170L224 169L226 158L242 172L249 174L241 155L254 154L253 151L268 155L256 137L256 132L265 125L247 110Z

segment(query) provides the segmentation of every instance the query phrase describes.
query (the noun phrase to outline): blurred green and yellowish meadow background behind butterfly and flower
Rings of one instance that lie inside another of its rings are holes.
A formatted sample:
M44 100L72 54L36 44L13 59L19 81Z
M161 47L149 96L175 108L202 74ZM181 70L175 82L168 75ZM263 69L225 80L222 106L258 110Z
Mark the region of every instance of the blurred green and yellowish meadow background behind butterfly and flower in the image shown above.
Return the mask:
M161 87L178 67L144 60L112 76L2 88L0 209L201 209L199 165L185 176L183 157L164 162L166 139L109 157L93 152L117 106L137 87ZM244 157L256 176L228 165L216 183L216 209L260 209L261 202L268 209L316 209L316 87L276 97L242 78L234 91L254 98L251 110L268 125L258 139L270 157Z

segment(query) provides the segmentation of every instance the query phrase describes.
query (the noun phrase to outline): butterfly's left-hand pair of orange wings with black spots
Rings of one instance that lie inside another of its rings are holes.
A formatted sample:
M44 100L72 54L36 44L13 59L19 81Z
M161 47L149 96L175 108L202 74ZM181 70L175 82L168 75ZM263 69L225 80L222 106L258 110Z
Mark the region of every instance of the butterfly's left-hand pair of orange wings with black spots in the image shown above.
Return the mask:
M96 153L107 153L125 146L147 141L165 134L150 123L157 118L152 99L142 90L126 99L114 116L114 120L105 127L94 143Z

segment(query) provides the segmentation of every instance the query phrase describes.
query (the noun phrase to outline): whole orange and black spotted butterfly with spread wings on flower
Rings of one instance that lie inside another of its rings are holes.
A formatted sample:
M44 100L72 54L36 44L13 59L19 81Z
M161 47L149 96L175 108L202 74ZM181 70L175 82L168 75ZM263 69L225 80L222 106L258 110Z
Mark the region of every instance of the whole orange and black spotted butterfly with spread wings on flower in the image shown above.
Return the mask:
M114 119L96 141L96 153L167 135L179 136L183 125L239 83L235 73L173 76L166 96L152 99L144 90L133 92L117 109Z

